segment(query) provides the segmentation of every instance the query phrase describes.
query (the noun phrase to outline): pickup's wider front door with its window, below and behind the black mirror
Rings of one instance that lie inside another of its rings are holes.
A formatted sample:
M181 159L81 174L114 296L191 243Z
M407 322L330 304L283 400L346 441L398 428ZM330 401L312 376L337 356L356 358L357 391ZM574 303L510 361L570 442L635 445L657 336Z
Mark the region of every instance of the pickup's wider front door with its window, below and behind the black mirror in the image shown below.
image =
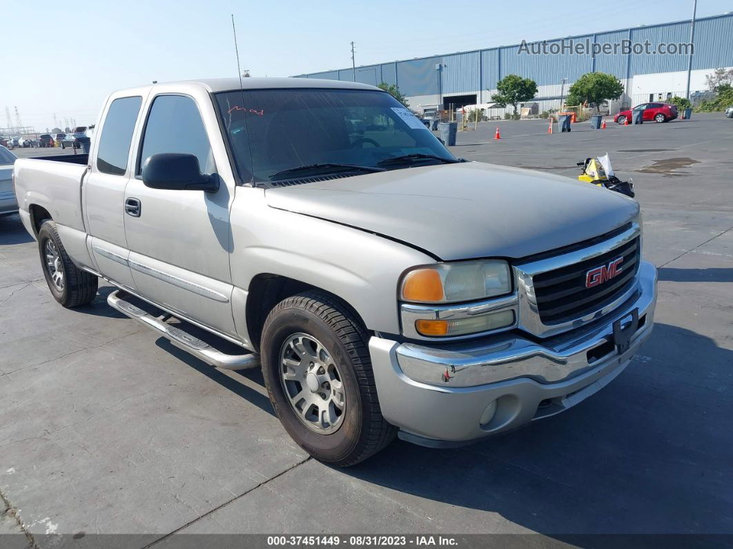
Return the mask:
M125 189L125 205L133 208L125 213L130 269L141 296L236 336L229 273L233 180L221 177L218 191L205 192L149 188L141 179L145 161L161 153L196 155L203 174L218 173L217 164L229 168L211 99L198 99L160 93L149 100L135 177Z

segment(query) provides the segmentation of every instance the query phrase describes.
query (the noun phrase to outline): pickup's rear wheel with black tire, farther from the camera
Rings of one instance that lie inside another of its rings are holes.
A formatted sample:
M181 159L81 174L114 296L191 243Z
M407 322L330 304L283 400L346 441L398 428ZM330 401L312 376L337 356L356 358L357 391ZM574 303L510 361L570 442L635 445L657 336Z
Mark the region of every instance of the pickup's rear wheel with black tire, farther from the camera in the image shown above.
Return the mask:
M56 252L56 259L53 259L54 272L51 272L51 266L48 264L51 261L49 257L51 248ZM56 223L50 219L43 221L38 231L38 252L48 290L51 290L51 295L56 301L69 309L94 301L99 279L76 268L59 238ZM62 273L61 284L58 278L54 279L54 274L59 270Z

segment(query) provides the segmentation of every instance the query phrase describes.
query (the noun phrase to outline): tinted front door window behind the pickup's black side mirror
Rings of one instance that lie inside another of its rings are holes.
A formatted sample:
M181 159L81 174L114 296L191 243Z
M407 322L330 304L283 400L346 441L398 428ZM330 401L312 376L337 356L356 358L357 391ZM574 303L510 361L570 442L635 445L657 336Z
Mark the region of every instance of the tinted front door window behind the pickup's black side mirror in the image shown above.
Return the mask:
M204 122L191 97L161 95L152 102L145 125L138 173L148 158L162 152L196 155L202 174L215 171Z

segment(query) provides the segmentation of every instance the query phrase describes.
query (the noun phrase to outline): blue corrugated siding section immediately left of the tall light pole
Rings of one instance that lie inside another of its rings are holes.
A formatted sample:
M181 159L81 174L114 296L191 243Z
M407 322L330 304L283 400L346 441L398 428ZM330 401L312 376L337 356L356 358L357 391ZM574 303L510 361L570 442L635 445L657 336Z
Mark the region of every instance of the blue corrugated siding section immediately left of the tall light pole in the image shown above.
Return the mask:
M690 40L690 23L638 27L631 29L631 42L643 44L649 40L652 50L660 43L681 43ZM630 54L631 75L649 73L672 73L687 70L687 55L636 55Z

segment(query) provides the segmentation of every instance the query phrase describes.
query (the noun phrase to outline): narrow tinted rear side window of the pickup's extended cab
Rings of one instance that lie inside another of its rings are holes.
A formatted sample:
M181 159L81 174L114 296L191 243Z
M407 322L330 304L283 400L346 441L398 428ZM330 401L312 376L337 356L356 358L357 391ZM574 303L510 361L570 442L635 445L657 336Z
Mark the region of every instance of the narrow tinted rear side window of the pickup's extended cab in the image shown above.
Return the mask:
M142 97L120 97L109 106L97 150L100 172L123 175L128 169L130 143L141 103ZM59 133L59 137L63 138L64 134Z

